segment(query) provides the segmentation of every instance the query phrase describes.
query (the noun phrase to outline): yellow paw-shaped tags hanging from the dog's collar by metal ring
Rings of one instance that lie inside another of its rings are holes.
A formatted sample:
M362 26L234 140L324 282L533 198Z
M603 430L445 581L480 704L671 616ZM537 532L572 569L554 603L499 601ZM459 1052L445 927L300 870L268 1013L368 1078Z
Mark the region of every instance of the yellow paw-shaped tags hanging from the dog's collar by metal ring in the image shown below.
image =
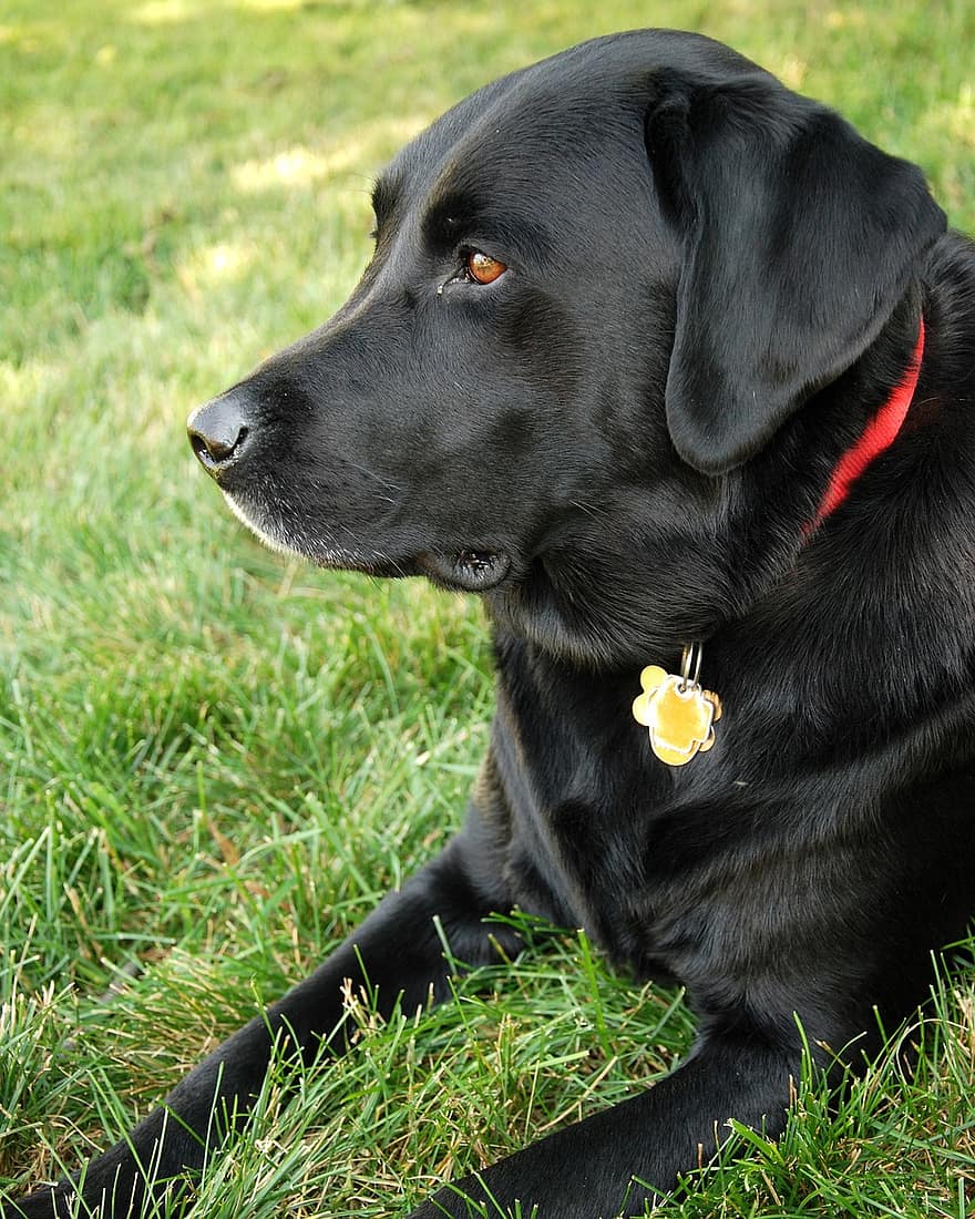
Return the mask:
M633 714L650 730L650 747L668 766L685 766L714 744L714 722L722 718L722 700L702 690L689 675L690 649L684 651L682 672L667 673L648 664L640 674L644 692L634 700ZM700 650L697 668L700 669Z

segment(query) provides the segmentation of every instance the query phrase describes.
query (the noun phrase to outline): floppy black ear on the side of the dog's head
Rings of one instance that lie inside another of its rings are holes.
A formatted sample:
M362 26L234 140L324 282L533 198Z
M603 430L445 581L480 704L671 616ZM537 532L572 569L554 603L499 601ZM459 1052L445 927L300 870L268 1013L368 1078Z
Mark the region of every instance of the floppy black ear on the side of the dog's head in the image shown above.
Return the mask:
M915 166L758 69L654 91L647 150L684 251L667 422L722 473L865 351L945 215Z

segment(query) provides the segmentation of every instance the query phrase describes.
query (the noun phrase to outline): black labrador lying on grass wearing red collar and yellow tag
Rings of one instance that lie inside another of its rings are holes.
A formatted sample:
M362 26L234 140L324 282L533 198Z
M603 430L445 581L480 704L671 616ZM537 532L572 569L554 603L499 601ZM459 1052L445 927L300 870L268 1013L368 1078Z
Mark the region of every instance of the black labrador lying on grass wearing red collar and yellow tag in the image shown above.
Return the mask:
M138 1213L136 1159L197 1168L275 1035L339 1052L363 973L385 1011L444 996L434 920L477 964L514 906L679 979L700 1034L412 1219L642 1213L729 1118L782 1129L803 1034L826 1070L876 1050L975 909L975 247L920 172L647 30L481 89L374 204L347 304L190 438L273 546L481 596L467 823L83 1185L5 1215Z

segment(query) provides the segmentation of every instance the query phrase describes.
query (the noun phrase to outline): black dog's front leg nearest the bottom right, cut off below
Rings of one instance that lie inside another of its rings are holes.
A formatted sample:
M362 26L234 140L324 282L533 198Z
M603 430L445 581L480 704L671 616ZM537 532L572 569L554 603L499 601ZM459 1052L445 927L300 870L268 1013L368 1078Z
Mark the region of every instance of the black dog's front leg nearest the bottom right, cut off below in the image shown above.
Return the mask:
M639 1096L439 1190L408 1219L642 1215L713 1157L730 1118L781 1134L800 1061L798 1047L711 1032Z

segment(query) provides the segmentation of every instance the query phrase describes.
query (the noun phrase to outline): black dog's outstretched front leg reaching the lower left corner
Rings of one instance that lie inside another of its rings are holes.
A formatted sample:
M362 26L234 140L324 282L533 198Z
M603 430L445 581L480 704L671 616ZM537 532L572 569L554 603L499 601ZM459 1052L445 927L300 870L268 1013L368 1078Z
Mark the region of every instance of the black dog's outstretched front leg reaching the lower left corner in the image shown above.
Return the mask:
M505 907L505 895L485 868L485 850L472 816L466 833L436 861L389 894L310 978L214 1050L126 1140L77 1180L0 1204L2 1219L66 1219L79 1193L93 1212L100 1207L101 1219L147 1213L151 1196L167 1180L199 1170L228 1128L244 1120L275 1040L306 1061L323 1039L336 1053L346 1048L342 996L350 980L353 987L368 985L379 1011L389 1014L399 1001L411 1011L445 996L451 974L445 941L452 957L469 965L495 959L498 941L514 954L514 934L483 923Z

